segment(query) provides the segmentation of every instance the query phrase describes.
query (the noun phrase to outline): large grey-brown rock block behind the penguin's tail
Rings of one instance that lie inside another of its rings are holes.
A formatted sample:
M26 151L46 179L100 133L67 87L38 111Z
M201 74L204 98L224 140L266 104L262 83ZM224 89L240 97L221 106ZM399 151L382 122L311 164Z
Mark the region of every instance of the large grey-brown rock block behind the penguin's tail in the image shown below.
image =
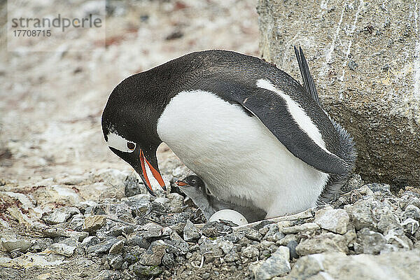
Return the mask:
M260 55L301 80L301 45L326 111L369 181L420 182L420 6L415 0L258 2Z

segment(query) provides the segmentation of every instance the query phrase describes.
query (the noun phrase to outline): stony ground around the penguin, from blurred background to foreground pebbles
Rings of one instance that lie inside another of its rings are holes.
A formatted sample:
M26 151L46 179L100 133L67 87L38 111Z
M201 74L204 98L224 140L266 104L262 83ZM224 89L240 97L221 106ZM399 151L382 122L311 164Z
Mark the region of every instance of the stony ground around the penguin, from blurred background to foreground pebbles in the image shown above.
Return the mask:
M169 188L148 195L102 139L109 92L193 50L258 55L255 1L108 3L104 49L6 52L1 40L1 279L420 275L416 188L353 175L331 205L239 228L206 224L174 186L188 169L161 146Z

